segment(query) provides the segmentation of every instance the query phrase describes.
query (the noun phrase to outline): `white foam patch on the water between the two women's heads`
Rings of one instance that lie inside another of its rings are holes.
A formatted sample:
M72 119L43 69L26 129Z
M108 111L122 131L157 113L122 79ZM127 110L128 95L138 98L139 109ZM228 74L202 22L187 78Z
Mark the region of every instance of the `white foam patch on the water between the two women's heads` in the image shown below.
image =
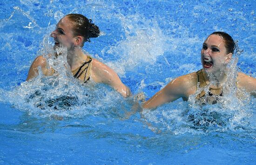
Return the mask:
M119 14L118 19L125 31L125 40L106 50L118 58L118 61L108 62L117 73L137 72L135 68L141 64L154 64L158 56L166 51L168 37L164 36L157 22L146 20L140 14Z

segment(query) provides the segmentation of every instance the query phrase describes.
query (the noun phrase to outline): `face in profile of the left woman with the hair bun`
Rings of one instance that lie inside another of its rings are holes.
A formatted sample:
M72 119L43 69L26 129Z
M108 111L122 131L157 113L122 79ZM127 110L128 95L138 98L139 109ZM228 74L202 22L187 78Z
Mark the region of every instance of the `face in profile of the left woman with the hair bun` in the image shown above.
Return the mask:
M67 18L62 18L56 25L56 29L51 33L54 38L54 49L56 47L65 46L70 50L74 46L75 37L72 33L71 22Z

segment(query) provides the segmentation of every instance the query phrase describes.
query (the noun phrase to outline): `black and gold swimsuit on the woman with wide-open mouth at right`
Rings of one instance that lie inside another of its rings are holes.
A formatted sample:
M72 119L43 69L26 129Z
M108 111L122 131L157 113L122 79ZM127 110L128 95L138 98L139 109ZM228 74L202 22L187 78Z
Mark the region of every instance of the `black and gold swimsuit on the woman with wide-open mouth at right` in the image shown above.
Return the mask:
M199 84L199 88L203 88L203 87L207 86L205 79L203 77L202 69L197 71L196 75L197 75L197 84ZM219 88L219 89L209 88L208 93L206 93L204 90L202 90L195 97L195 99L200 100L202 103L207 102L208 104L216 104L218 101L218 98L221 97L222 95L223 95L222 88Z

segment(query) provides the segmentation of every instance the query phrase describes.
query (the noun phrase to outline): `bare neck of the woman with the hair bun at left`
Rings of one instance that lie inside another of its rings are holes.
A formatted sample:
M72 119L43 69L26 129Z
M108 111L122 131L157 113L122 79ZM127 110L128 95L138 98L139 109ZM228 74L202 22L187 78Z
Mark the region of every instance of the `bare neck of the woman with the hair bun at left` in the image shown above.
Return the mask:
M81 48L74 48L67 53L67 63L71 71L76 70L87 59L87 54L83 53Z

